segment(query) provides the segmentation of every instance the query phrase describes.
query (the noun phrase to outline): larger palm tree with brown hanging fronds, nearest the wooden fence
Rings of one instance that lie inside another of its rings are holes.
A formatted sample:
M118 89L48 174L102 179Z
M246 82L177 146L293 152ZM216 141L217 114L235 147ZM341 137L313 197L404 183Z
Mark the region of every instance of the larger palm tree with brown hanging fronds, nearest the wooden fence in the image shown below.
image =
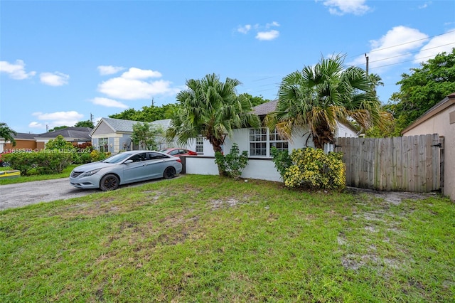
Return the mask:
M294 127L309 127L315 147L323 148L334 142L337 122L369 129L390 119L381 110L372 79L361 68L345 69L343 56L336 55L283 78L267 126L277 127L287 139Z

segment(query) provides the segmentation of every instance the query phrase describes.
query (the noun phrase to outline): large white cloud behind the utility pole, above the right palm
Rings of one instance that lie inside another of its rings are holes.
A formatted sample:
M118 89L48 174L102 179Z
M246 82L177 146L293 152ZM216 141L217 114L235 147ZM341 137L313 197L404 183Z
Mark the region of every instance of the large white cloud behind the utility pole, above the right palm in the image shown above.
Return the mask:
M415 28L396 26L382 36L379 40L370 41L371 50L369 68L379 73L390 65L402 63L412 58L412 51L421 48L426 43L428 36ZM365 66L365 56L360 55L350 65Z

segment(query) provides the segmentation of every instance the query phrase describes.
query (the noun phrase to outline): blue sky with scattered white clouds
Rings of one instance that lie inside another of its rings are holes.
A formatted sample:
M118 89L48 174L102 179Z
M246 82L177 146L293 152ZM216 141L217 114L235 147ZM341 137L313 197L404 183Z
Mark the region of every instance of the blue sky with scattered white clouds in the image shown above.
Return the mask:
M385 84L455 47L455 1L0 1L0 122L16 132L174 103L215 73L273 100L284 76L346 55Z

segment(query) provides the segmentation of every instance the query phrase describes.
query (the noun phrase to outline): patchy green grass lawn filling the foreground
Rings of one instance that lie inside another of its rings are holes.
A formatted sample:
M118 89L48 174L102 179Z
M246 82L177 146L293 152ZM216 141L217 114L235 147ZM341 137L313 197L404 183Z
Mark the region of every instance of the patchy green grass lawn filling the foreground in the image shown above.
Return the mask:
M218 176L0 212L0 302L454 302L455 205Z

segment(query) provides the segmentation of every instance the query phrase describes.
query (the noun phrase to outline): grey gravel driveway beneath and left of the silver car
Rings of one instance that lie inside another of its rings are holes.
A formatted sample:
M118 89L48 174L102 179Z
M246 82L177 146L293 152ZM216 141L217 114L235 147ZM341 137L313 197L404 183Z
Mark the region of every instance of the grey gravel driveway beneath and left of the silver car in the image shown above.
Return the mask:
M121 188L139 186L146 182L160 180L163 179L127 184L121 186ZM70 186L68 178L0 185L0 211L6 208L16 208L55 200L66 200L100 192L100 189L80 189Z

